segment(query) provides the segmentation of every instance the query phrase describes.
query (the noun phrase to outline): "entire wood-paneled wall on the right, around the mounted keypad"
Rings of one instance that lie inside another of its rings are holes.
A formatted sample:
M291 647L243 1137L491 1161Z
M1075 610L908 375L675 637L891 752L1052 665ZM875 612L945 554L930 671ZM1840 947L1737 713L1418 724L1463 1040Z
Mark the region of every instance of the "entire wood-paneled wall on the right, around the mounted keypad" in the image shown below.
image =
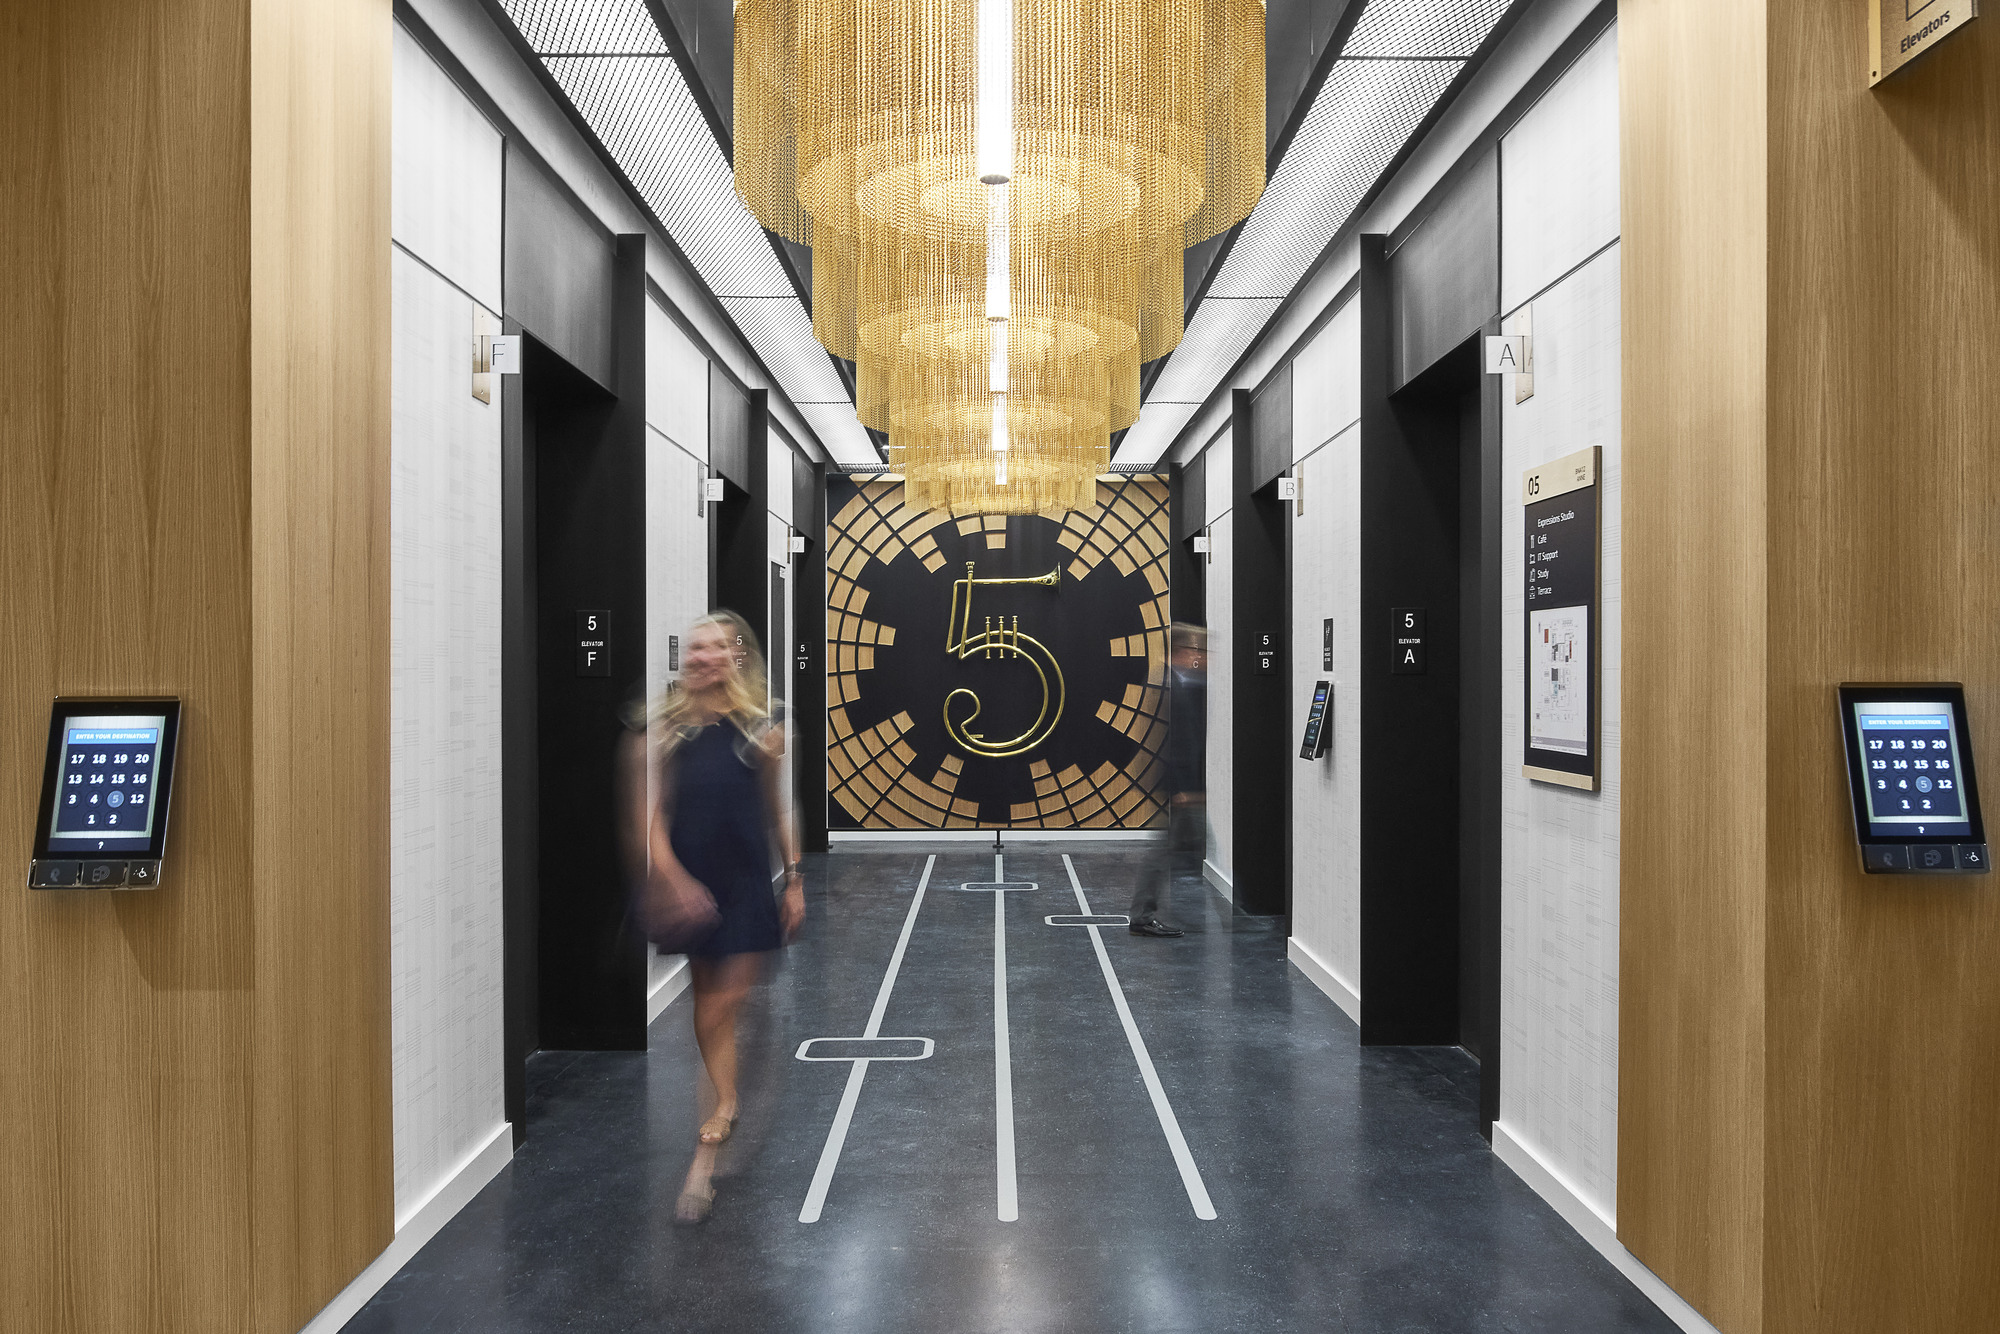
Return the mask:
M1620 8L1618 1232L1730 1334L2000 1310L2000 884L1860 872L1834 712L2000 754L2000 26L1870 92L1866 16Z

